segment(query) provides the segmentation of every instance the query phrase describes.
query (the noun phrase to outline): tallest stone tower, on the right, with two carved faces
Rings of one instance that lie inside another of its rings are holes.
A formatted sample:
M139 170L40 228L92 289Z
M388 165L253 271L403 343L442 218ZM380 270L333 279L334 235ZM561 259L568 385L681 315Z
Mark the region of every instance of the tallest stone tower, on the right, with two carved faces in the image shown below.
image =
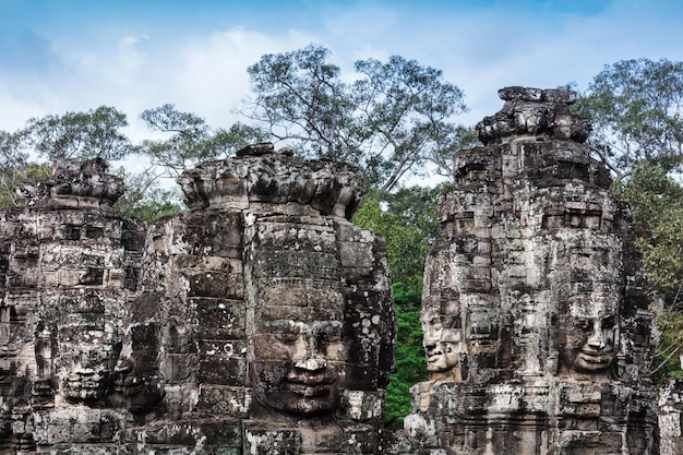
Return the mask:
M455 156L424 273L410 454L651 454L651 316L630 215L574 94L508 87Z

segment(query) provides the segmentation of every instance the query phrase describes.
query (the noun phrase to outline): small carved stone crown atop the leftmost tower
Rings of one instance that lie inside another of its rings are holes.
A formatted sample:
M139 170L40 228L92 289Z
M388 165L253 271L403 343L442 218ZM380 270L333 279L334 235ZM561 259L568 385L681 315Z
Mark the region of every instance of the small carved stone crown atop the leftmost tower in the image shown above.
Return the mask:
M119 177L106 173L103 158L93 158L79 165L72 159L58 159L50 180L22 184L17 194L26 205L112 206L125 187Z

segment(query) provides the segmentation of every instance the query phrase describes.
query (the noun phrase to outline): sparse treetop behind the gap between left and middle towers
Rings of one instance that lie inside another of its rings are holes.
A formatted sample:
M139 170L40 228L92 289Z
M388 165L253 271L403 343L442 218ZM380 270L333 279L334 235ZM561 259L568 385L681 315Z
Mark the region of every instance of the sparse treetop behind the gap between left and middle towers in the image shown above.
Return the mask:
M212 129L203 118L179 111L170 104L147 109L140 118L151 130L165 133L166 137L144 140L135 151L171 177L197 163L228 157L245 145L265 139L259 128L239 122L228 130Z

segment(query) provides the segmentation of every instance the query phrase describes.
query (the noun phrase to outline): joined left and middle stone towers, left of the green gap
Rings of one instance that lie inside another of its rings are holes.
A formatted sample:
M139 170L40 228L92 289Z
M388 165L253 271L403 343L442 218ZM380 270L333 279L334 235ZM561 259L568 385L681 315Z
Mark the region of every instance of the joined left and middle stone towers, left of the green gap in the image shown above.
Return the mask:
M3 214L0 453L382 453L395 318L355 169L260 144L179 183L190 212L139 229L64 161Z

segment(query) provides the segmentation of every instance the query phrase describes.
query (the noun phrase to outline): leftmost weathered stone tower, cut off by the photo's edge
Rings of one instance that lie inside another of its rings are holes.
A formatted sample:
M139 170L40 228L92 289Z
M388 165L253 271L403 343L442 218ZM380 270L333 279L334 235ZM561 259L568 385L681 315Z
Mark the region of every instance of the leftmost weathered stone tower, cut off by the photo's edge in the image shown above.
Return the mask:
M0 219L3 453L115 453L132 424L109 393L140 270L123 232L141 227L110 208L122 185L104 170L61 161Z

